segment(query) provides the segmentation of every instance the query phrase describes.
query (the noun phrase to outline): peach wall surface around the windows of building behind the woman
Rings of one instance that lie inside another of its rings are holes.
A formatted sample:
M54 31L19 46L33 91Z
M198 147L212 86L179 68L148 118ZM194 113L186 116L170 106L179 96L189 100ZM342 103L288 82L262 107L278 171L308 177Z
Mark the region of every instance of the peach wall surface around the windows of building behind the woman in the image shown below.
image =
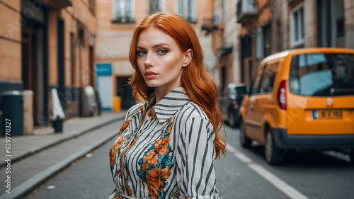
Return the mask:
M161 12L177 13L176 0L162 0ZM187 1L185 1L187 2ZM207 72L215 78L216 58L212 50L212 40L210 35L205 35L201 30L205 18L212 18L213 9L210 6L212 0L196 0L196 23L191 23L198 35L200 44L205 53L205 67ZM113 23L113 0L100 0L97 5L97 48L96 64L112 64L112 95L116 96L118 82L117 77L131 76L135 70L129 62L129 48L132 40L132 33L139 23L149 14L149 4L147 0L132 0L134 5L135 21L133 23ZM185 8L184 13L187 13Z

